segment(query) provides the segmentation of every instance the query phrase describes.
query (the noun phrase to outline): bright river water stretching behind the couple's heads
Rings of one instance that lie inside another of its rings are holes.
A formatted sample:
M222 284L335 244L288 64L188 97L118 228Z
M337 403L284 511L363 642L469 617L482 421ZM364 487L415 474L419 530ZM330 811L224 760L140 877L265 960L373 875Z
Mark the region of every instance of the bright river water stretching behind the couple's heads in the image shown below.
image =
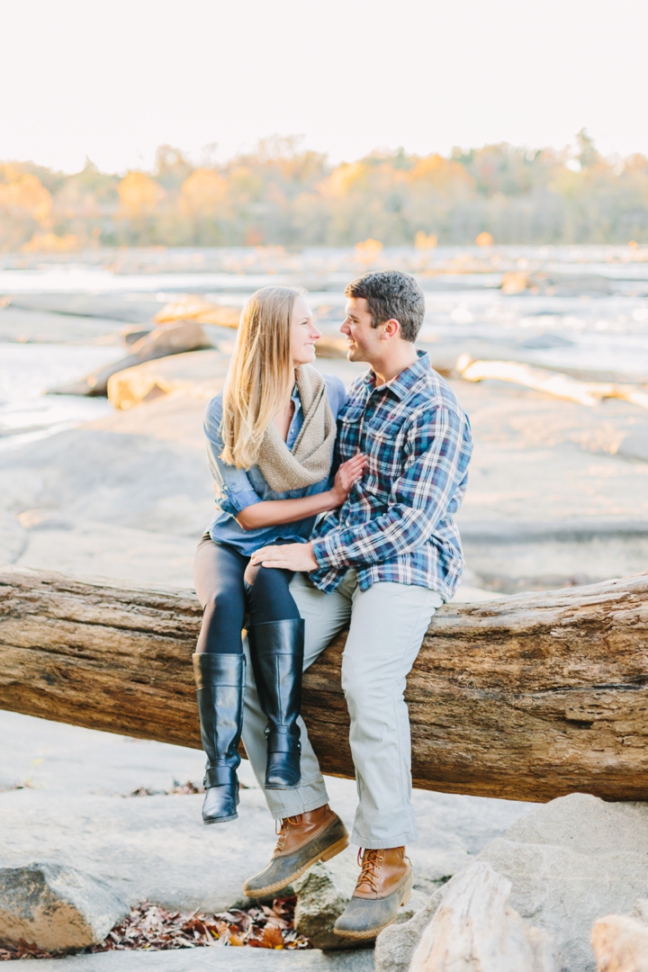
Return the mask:
M645 248L394 248L371 259L353 249L277 247L7 255L0 330L3 320L19 320L0 338L0 450L109 412L106 399L45 393L117 360L119 330L149 321L179 294L241 306L257 287L296 284L308 290L323 329L334 331L345 284L389 267L417 275L426 294L422 343L432 356L467 350L648 383Z

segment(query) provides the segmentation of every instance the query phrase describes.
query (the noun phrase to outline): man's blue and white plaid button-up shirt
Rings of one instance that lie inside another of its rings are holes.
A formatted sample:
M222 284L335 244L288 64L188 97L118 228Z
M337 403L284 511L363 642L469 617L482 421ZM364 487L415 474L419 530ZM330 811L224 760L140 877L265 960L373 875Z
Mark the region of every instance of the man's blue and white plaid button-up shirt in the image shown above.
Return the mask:
M334 591L350 567L360 590L394 581L438 591L445 601L463 571L460 507L472 452L470 423L429 357L376 387L373 371L357 378L338 416L337 460L363 452L367 465L339 509L313 533L320 570Z

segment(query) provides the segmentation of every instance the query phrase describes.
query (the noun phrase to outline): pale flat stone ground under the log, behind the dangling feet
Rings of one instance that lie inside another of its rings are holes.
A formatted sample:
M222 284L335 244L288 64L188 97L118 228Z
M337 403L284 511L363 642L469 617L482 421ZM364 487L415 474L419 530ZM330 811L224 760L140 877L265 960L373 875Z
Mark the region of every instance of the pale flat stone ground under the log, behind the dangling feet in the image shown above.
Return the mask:
M243 761L240 817L205 827L202 797L124 798L138 787L200 781L199 750L133 740L0 712L0 864L59 860L124 888L129 901L218 910L241 899L244 877L274 847L270 818L250 764ZM19 790L10 786L27 784ZM331 805L349 829L355 781L327 778ZM116 794L116 795L112 795ZM532 805L415 790L420 840L408 848L415 886L431 893L501 837ZM345 851L355 867L355 849Z

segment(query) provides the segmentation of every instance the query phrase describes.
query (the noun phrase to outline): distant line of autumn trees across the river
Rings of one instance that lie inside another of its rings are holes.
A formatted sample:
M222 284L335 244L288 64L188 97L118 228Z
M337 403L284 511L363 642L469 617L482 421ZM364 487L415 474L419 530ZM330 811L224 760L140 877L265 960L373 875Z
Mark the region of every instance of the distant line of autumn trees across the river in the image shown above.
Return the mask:
M648 159L508 144L449 157L402 149L330 164L271 139L224 164L162 146L151 173L0 164L0 248L648 242Z

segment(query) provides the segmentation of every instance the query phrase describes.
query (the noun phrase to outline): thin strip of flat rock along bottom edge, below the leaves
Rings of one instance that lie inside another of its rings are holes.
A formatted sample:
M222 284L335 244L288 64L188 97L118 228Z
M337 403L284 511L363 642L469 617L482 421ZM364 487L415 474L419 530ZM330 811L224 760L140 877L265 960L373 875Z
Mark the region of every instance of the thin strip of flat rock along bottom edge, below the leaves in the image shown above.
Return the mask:
M38 972L372 972L373 952L323 953L269 949L182 949L174 952L104 952L44 959Z

